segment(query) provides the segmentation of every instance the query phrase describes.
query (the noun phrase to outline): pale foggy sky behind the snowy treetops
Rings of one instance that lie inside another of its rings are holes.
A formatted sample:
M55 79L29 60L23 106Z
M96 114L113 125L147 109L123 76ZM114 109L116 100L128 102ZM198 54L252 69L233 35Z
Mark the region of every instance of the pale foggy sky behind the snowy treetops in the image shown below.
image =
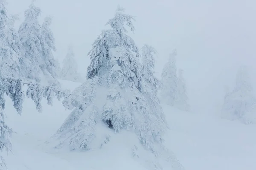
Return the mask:
M20 14L18 26L31 0L7 1L9 14ZM218 111L224 87L232 88L240 64L250 66L256 82L255 0L37 0L35 4L43 11L41 22L53 16L56 57L62 64L72 44L83 75L91 44L108 28L105 23L120 4L136 16L132 37L137 45L157 49L157 76L169 53L177 49L177 67L185 70L194 111Z

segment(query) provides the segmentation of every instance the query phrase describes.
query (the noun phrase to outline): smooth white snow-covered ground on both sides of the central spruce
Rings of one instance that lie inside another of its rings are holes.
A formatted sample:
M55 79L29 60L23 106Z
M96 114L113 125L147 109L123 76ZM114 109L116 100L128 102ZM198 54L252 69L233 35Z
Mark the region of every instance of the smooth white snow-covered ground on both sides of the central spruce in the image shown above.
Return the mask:
M60 81L64 89L73 90L80 85ZM131 146L123 137L132 138L133 134L128 132L112 136L106 147L90 152L50 150L45 142L71 111L66 111L57 99L53 106L43 99L42 106L43 112L38 113L32 100L25 99L23 114L19 116L7 99L6 122L16 132L12 153L5 156L9 170L146 170L129 154ZM166 105L163 109L170 127L165 136L166 146L186 170L256 169L256 125L186 113Z

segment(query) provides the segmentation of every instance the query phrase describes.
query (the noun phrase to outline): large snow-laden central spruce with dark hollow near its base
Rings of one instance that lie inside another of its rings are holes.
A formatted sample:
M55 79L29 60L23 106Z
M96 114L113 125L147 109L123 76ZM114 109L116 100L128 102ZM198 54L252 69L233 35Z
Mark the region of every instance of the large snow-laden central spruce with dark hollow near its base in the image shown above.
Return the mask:
M112 29L102 31L93 43L87 81L63 102L73 111L53 138L60 141L57 148L93 150L111 140L113 132L129 130L137 134L142 150L153 153L148 154L154 160L147 159L147 165L154 164L153 169L161 169L161 165L154 161L163 156L163 133L167 125L162 111L152 110L151 103L143 95L151 91L147 91L146 86L154 84L155 79L142 74L138 48L125 28L126 25L134 31L134 18L123 11L118 7L115 17L107 23ZM147 82L146 79L154 80ZM142 82L145 83L140 84ZM99 127L102 127L100 132ZM104 137L106 141L102 140ZM137 149L135 147L135 152ZM168 159L172 162L169 167L183 168L175 156L168 156Z

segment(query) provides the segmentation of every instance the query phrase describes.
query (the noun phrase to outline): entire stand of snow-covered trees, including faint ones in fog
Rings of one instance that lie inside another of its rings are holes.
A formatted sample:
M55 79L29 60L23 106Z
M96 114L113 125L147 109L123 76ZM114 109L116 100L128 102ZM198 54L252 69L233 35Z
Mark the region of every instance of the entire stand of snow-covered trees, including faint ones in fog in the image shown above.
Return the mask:
M118 6L114 17L107 22L111 29L102 31L93 42L88 53L91 62L86 80L71 93L61 88L58 79L80 82L81 75L71 46L62 68L55 59L52 18L46 17L40 24L41 9L32 2L16 30L17 15L9 15L6 1L0 0L0 150L12 148L12 129L5 123L6 96L12 99L18 114L22 113L25 96L35 102L39 112L43 97L49 105L56 97L63 98L64 107L73 110L53 136L60 140L56 148L90 150L99 135L109 136L107 131L97 134L96 127L103 124L115 132L134 132L143 149L153 155L152 167L161 169L158 160L164 159L174 170L183 169L164 146L163 134L168 123L160 105L191 110L184 71L176 67L177 51L171 52L161 80L157 79L154 75L157 51L150 45L139 48L127 35L128 31L135 31L134 17L124 11ZM244 117L255 106L245 70L239 70L235 90L225 96L223 112L229 113L226 116ZM140 152L137 148L131 148L134 156ZM3 158L0 160L0 167L6 169Z

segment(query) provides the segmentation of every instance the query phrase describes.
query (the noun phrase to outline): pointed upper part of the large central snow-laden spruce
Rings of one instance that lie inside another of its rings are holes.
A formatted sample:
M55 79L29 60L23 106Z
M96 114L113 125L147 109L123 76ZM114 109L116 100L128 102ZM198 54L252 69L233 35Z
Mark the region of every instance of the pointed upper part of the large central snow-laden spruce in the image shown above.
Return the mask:
M131 31L134 31L132 23L134 17L123 14L123 11L124 8L118 6L115 16L106 23L112 29L102 31L93 43L93 48L88 54L91 62L87 68L87 79L92 79L95 76L102 77L102 74L108 73L116 63L122 69L133 67L129 69L130 71L127 70L128 74L137 74L135 73L137 72L137 64L132 63L134 62L134 57L139 56L138 48L134 40L125 34L128 32L125 24ZM114 62L115 60L116 62ZM127 60L130 63L126 62ZM108 66L103 66L103 63ZM131 73L131 71L134 73Z

